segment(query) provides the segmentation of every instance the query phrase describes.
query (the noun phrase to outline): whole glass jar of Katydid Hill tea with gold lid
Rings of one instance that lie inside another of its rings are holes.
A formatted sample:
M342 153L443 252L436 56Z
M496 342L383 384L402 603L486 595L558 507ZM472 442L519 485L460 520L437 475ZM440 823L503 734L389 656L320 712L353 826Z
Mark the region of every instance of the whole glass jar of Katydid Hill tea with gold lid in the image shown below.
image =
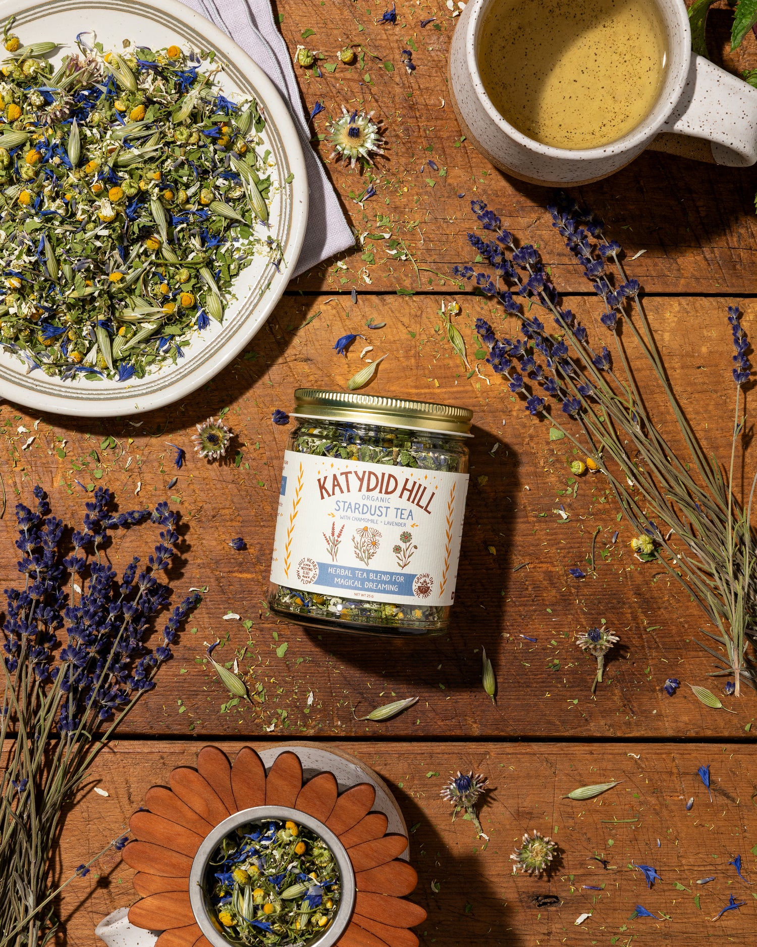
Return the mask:
M299 388L270 605L299 624L439 634L454 600L472 412Z

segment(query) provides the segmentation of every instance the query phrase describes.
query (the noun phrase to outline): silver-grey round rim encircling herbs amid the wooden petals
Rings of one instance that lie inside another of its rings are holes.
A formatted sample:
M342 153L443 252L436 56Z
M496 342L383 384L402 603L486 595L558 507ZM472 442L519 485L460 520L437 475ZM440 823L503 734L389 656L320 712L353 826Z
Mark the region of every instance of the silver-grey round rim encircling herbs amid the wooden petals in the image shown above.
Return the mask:
M314 819L308 813L300 812L298 809L287 809L284 806L258 806L255 809L242 809L240 812L224 819L205 836L202 845L197 849L189 873L189 902L192 905L195 920L197 920L202 933L213 944L213 947L230 947L231 941L221 933L218 921L213 919L209 898L205 891L204 879L208 862L218 848L221 839L226 835L247 823L265 822L269 819L278 822L286 822L290 819L292 822L315 832L326 843L336 860L342 892L334 920L320 936L307 941L292 940L289 944L289 947L303 947L305 944L307 944L307 947L331 947L342 937L352 918L352 912L355 908L355 872L352 869L352 863L346 849L337 836L330 829L326 829L323 822L319 822L318 819Z

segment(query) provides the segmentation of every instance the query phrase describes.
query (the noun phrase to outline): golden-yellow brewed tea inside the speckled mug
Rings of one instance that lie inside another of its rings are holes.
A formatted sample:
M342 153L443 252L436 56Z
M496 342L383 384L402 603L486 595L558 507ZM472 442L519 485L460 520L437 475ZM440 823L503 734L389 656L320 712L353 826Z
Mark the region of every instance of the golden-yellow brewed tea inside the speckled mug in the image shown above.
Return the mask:
M643 122L666 56L655 0L494 0L478 45L497 111L529 138L568 149L607 145Z

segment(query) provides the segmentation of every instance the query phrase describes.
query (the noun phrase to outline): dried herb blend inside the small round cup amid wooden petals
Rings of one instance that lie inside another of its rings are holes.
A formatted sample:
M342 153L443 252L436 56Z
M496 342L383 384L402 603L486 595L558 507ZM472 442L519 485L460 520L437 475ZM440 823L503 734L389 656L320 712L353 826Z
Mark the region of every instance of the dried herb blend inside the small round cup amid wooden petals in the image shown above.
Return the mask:
M268 819L223 839L206 884L217 926L238 944L307 943L326 931L341 893L323 839L295 822Z

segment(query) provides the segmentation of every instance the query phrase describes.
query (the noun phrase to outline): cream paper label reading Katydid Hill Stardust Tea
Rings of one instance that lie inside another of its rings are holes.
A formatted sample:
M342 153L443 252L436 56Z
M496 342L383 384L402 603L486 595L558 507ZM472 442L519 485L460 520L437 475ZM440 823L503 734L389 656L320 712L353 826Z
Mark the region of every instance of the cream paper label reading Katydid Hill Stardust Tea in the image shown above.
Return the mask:
M451 605L467 479L287 451L271 581L341 599Z

